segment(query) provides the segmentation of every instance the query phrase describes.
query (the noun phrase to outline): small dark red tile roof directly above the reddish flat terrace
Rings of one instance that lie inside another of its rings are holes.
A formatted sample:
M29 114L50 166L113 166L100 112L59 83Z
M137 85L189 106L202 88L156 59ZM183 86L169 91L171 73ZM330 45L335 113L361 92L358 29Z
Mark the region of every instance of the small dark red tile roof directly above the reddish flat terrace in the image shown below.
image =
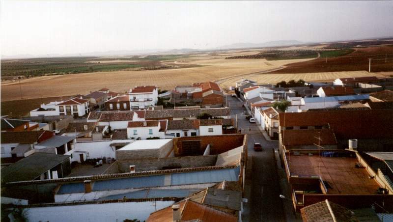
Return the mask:
M336 145L337 140L333 130L285 130L282 134L284 145ZM316 138L320 138L319 141Z

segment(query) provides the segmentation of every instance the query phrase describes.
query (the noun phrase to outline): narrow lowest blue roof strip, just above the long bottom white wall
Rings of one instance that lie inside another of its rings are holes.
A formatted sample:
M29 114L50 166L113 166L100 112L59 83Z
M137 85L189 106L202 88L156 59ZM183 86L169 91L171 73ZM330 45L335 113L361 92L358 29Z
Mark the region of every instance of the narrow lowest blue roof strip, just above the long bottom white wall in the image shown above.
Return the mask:
M124 194L110 195L110 196L102 197L99 200L122 199L123 196L131 199L153 198L153 197L185 197L190 194L194 194L198 191L200 191L200 189L179 189L179 190L145 189L141 191L128 192Z

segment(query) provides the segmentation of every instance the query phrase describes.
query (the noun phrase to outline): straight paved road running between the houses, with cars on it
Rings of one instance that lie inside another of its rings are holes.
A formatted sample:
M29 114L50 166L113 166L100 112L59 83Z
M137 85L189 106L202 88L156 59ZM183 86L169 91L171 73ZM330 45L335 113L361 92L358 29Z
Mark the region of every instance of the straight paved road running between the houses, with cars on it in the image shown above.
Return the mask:
M285 212L282 199L279 197L280 178L277 173L273 149L278 149L277 141L268 141L261 134L255 123L250 123L243 114L245 108L234 97L227 97L228 106L233 118L238 117L238 128L248 135L248 156L253 156L253 168L250 173L251 195L247 206L250 206L250 215L246 217L252 222L280 222L285 221ZM251 131L250 131L251 128ZM262 152L253 150L253 143L259 142L263 147ZM250 158L249 158L250 159ZM250 159L251 160L251 159ZM246 184L247 185L247 184ZM246 221L246 220L245 220Z

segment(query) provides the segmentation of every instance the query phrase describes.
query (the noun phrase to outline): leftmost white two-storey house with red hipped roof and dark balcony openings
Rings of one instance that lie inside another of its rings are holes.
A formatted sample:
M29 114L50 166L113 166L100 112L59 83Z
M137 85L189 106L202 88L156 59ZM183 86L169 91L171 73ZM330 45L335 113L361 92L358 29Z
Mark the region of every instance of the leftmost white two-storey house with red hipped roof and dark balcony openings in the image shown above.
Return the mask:
M89 112L89 101L82 98L72 98L56 104L60 115L84 116Z

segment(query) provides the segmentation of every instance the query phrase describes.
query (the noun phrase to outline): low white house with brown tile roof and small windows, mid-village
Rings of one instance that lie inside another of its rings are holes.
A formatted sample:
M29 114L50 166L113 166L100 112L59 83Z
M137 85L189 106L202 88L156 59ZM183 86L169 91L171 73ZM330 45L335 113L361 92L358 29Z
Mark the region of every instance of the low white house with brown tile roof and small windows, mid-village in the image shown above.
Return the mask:
M146 120L128 122L127 137L129 139L147 139L158 137L165 139L168 120Z

